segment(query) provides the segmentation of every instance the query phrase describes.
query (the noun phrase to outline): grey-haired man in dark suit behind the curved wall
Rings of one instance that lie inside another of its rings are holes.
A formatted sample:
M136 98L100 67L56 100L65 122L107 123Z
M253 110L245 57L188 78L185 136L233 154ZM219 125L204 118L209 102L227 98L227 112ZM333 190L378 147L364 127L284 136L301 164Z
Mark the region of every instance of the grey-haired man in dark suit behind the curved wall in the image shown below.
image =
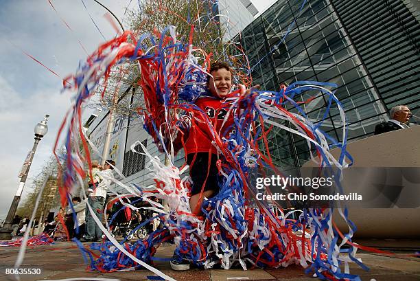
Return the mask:
M408 128L406 124L411 117L410 109L405 105L394 106L390 111L390 120L375 126L375 135L388 133L390 131L399 130L401 128Z

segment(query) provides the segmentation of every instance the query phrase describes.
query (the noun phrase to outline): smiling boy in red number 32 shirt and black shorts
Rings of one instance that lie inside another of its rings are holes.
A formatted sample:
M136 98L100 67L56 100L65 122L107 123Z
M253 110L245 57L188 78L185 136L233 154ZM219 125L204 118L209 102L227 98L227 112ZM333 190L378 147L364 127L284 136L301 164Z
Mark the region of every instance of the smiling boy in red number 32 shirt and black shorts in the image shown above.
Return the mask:
M209 73L211 76L207 80L207 87L211 96L198 98L195 104L206 113L220 137L227 137L230 132L229 127L233 124L233 113L229 113L231 104L226 102L231 93L233 71L226 63L213 63ZM190 126L189 132L184 134L184 139L187 138L184 150L189 165L189 175L193 181L189 206L193 214L200 215L201 190L203 190L201 196L203 199L215 196L220 189L216 166L218 150L212 144L213 134L207 125L206 116L195 113L194 119L194 126ZM189 262L174 254L171 267L176 271L188 270Z

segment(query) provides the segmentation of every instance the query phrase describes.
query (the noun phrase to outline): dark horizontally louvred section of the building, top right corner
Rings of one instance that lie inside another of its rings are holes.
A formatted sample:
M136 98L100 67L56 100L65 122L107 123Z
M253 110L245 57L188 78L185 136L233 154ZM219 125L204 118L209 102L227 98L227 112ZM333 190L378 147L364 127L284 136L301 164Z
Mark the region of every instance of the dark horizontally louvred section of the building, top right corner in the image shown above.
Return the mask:
M410 1L333 0L386 109L420 108L420 23Z

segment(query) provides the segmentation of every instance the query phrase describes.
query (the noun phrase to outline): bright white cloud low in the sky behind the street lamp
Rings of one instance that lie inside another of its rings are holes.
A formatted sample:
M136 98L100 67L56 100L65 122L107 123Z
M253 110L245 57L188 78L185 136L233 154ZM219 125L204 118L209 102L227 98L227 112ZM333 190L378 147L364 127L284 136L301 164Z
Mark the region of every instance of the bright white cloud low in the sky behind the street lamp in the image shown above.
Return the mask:
M51 156L58 127L69 108L69 96L60 94L55 89L39 89L29 96L22 96L1 76L0 88L0 217L4 217L19 183L17 174L34 144L34 126L43 120L45 114L51 115L48 122L49 132L38 145L28 175L30 178L40 172Z

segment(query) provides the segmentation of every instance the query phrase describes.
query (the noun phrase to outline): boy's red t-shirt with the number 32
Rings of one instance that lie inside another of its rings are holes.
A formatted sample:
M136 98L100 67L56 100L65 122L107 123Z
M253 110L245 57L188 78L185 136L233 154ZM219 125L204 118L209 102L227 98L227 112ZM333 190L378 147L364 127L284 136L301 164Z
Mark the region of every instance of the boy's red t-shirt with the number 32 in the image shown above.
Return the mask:
M234 115L233 110L230 111L231 102L213 97L203 97L198 98L195 104L205 112L208 119L201 113L194 113L194 122L191 123L187 142L185 142L185 155L189 153L208 153L209 151L217 154L218 150L211 143L214 138L207 120L211 122L215 132L220 137L228 137L232 131L229 127L233 124ZM224 122L226 116L228 118Z

